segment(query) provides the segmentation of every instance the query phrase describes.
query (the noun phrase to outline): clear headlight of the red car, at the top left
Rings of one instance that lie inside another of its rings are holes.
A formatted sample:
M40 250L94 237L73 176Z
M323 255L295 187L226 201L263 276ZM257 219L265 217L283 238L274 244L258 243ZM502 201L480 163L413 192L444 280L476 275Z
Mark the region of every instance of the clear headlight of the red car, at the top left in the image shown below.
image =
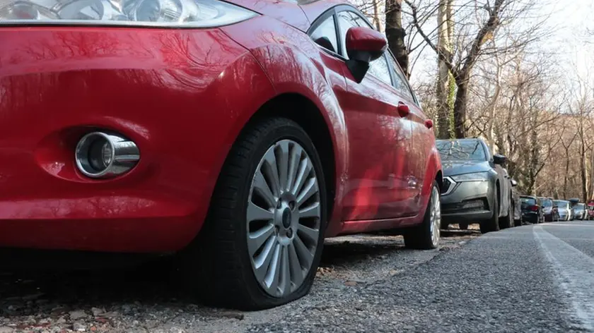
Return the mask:
M141 25L212 28L257 14L219 0L8 0L0 24Z

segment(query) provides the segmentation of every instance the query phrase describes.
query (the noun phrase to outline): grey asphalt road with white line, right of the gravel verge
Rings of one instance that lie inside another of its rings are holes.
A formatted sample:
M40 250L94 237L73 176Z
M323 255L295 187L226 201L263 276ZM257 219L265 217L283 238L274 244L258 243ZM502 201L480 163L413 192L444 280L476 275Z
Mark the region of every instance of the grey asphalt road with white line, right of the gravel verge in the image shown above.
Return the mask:
M593 256L594 222L508 229L253 332L594 332Z

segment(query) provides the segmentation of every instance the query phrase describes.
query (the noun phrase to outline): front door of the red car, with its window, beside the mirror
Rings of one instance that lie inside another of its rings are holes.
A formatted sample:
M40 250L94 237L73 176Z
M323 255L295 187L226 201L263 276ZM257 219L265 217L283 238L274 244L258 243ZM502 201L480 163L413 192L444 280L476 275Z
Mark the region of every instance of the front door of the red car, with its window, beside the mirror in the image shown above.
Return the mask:
M355 26L372 26L347 6L337 9L339 44L346 60L344 40ZM347 100L342 105L349 133L349 180L344 197L346 221L390 219L416 214L416 184L410 178L411 123L399 114L405 99L392 86L388 58L370 64L361 83L349 72Z

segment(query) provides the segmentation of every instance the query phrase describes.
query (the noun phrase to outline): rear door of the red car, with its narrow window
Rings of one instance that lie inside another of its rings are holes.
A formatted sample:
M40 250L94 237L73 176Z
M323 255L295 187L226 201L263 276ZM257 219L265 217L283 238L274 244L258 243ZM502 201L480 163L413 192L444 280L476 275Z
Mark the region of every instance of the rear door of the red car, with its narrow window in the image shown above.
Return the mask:
M409 191L411 191L414 198L412 200L412 207L417 212L421 212L424 207L421 207L421 190L425 183L427 176L427 164L429 163L429 156L431 155L431 148L435 141L433 129L426 126L426 116L417 102L412 89L402 72L402 68L398 65L391 52L387 52L386 56L390 61L392 70L392 82L395 89L402 97L402 103L406 104L410 109L410 114L406 117L410 121L412 141L409 152L409 175L407 184Z

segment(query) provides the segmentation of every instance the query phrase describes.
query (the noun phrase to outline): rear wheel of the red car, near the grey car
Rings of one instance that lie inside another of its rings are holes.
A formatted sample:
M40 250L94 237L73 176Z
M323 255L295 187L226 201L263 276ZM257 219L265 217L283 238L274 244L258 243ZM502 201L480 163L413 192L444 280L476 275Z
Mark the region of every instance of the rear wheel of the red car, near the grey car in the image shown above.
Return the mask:
M441 195L436 181L433 181L431 198L427 203L427 209L423 222L419 226L407 230L404 233L404 246L418 250L431 250L439 246L441 237Z

